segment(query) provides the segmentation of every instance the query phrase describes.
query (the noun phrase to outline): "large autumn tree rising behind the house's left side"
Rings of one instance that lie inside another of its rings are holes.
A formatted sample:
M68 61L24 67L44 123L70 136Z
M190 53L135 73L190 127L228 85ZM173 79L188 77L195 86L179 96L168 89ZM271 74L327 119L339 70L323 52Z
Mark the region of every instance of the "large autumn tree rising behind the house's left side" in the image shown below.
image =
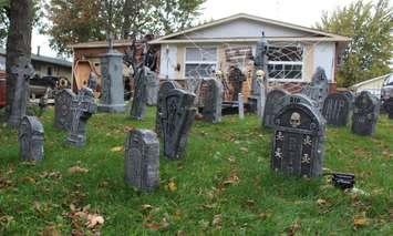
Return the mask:
M104 40L112 34L164 34L189 27L206 0L50 0L45 7L50 23L43 28L60 54L70 44Z

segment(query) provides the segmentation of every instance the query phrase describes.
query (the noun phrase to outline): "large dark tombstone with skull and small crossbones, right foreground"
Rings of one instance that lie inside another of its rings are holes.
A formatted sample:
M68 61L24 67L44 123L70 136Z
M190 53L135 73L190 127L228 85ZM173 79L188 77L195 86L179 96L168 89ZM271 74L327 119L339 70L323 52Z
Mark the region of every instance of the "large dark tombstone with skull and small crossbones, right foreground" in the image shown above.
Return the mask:
M321 175L324 120L318 109L292 100L275 116L275 124L272 170L297 176Z

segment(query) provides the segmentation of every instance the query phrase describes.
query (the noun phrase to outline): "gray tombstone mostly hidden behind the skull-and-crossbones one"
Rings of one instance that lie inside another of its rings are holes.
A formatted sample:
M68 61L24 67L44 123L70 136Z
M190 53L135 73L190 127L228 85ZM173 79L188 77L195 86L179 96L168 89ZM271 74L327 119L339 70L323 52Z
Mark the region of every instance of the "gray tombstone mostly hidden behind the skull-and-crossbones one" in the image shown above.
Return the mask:
M265 112L263 112L263 126L273 127L275 126L275 115L281 109L278 104L280 100L289 95L285 90L275 89L271 90L266 96Z

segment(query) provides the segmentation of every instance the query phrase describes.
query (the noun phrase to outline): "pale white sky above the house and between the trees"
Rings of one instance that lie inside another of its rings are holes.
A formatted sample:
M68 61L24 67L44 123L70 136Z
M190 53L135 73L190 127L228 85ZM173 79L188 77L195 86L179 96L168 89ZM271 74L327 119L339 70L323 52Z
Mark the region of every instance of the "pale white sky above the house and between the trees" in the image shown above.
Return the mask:
M257 17L290 22L303 27L312 27L321 19L322 12L331 12L344 7L353 0L207 0L203 4L199 20L217 20L236 13L248 13ZM49 47L49 37L37 30L32 37L32 52L41 47L40 54L55 57Z

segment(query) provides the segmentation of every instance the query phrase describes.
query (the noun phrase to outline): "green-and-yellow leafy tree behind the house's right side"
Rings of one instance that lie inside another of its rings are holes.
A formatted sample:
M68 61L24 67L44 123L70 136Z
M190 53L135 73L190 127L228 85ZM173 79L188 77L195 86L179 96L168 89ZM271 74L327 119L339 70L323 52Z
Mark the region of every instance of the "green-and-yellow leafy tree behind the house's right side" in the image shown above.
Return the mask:
M332 13L324 12L317 28L351 38L338 71L338 84L351 84L390 72L393 11L389 0L355 1Z

